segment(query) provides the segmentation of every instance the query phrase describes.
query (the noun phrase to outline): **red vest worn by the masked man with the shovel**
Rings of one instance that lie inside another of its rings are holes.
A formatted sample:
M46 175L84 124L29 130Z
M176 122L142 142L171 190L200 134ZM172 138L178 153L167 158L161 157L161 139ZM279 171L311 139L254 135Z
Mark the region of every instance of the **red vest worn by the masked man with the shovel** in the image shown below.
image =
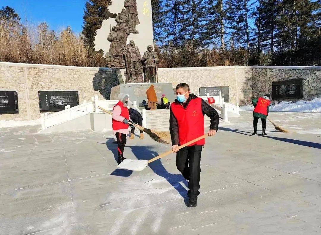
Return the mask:
M192 99L186 109L181 104L174 102L171 105L171 110L177 120L180 145L204 135L204 115L201 98ZM188 146L204 144L205 139L202 139Z

